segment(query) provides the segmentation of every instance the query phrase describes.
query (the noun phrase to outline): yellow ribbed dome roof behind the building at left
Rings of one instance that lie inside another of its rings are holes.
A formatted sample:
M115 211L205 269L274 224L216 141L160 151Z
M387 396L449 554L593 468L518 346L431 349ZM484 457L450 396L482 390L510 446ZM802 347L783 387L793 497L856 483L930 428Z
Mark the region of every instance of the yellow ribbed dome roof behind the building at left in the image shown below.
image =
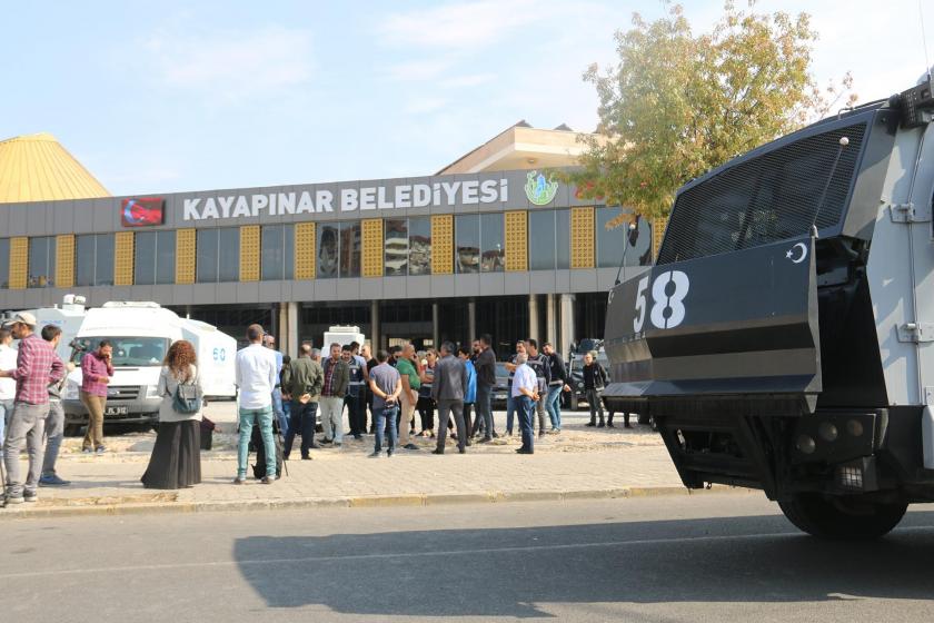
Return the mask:
M0 204L110 197L50 134L0 140Z

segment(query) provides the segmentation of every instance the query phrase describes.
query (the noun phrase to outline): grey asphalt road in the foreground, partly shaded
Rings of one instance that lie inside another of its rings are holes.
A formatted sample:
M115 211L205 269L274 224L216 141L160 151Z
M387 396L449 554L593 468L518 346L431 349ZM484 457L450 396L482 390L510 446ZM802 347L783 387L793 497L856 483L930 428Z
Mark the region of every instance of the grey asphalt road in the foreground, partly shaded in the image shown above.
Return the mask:
M2 621L931 621L934 507L823 543L757 494L0 522Z

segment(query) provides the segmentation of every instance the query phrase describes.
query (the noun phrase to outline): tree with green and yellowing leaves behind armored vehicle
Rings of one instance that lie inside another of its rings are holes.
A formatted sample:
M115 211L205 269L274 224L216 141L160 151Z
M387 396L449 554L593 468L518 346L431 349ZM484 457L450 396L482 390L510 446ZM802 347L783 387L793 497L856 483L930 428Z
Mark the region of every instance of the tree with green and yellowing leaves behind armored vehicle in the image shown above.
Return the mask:
M599 125L583 139L582 170L566 176L582 197L645 217L667 216L682 185L825 116L852 87L848 73L842 89L816 86L817 33L806 13L727 1L713 31L694 36L682 7L665 4L664 18L648 23L635 13L633 28L616 32L618 65L584 75L599 97Z

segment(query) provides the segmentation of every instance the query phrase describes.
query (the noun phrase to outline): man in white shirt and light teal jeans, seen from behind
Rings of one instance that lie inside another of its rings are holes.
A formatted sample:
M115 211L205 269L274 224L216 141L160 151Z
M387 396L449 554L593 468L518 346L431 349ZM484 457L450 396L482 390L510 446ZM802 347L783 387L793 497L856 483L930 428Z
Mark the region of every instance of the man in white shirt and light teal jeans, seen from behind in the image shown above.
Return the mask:
M266 476L262 484L276 479L276 446L272 443L272 388L279 382L276 354L262 346L262 327L247 327L250 345L237 352L237 387L240 395L240 439L237 453L235 485L247 478L247 458L252 427L259 426L262 447L266 449Z

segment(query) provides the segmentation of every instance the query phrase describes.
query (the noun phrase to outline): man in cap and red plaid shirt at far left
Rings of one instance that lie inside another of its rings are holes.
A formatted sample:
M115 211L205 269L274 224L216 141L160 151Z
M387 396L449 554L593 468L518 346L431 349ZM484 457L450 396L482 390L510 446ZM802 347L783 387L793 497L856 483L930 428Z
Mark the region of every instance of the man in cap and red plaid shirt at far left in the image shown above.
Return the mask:
M36 335L36 317L22 312L7 327L20 340L16 369L0 370L0 377L17 383L13 414L7 428L3 464L7 467L6 505L37 502L37 486L42 468L42 435L49 415L49 384L61 380L64 364L44 339ZM19 453L26 443L29 472L20 478Z

